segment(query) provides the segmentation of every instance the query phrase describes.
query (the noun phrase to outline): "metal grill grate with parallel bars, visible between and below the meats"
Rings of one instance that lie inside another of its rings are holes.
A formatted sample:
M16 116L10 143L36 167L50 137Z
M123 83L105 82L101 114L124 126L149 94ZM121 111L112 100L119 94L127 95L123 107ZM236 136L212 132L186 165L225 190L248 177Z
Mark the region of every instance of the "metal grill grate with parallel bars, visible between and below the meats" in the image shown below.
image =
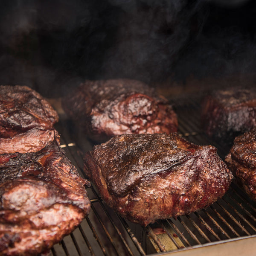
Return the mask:
M224 158L229 146L212 141L201 130L200 101L199 97L176 102L179 133L192 143L215 145L218 154ZM93 144L85 134L76 130L76 124L63 113L60 116L56 129L61 134L61 146L84 177L83 154ZM227 244L233 241L241 241L241 249L247 239L256 236L256 203L234 183L223 198L207 209L177 219L157 221L145 228L113 212L102 201L93 184L87 192L91 201L90 214L70 236L55 244L50 255L188 255L183 254L186 252L191 255L193 251L202 253L207 245L217 248L219 244L225 244L227 249ZM232 245L232 248L235 247ZM239 250L235 251L239 253Z

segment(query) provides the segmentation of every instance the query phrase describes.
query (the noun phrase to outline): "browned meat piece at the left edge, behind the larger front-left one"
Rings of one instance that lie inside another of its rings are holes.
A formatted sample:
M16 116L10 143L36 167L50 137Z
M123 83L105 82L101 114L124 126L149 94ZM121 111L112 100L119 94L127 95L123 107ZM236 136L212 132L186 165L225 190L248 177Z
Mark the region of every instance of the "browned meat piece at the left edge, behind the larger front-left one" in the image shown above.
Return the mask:
M54 139L58 114L26 86L0 86L0 154L36 152Z

